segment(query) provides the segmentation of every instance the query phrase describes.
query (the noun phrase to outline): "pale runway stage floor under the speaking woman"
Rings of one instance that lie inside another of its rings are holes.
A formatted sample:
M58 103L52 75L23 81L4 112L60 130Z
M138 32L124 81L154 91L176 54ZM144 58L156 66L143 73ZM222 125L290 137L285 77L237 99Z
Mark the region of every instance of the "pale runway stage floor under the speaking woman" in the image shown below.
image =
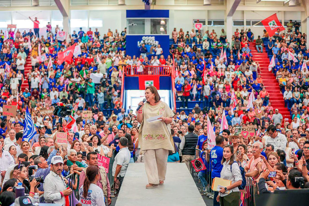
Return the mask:
M130 163L115 205L206 205L185 163L168 163L163 185L146 189L147 183L144 163Z

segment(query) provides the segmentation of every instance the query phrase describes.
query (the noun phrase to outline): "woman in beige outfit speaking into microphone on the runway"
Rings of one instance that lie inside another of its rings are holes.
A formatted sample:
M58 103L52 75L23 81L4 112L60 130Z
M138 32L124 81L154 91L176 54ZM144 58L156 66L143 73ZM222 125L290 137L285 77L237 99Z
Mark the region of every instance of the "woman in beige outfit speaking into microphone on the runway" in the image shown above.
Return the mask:
M158 90L154 86L146 87L145 98L145 103L138 103L141 108L137 111L137 120L141 123L138 139L144 154L148 189L164 183L168 150L174 151L170 125L174 113L165 102L160 101ZM160 121L147 121L156 116L162 116L158 118Z

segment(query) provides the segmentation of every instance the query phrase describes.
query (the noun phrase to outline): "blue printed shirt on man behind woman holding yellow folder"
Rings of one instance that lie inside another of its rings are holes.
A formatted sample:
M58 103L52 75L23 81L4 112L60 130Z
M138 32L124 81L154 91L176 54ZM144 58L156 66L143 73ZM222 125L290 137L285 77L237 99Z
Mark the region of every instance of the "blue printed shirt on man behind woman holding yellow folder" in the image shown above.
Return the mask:
M223 165L221 164L223 158L223 148L214 146L210 151L210 161L212 163L211 178L220 177Z

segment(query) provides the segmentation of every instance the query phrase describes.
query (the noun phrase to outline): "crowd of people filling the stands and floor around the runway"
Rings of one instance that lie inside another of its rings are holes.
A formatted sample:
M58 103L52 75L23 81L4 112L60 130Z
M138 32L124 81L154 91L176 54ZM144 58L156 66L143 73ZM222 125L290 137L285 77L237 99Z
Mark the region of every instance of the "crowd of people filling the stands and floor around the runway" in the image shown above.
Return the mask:
M33 21L36 25L37 19ZM278 69L281 74L279 83L285 77L283 73L290 72L289 81L286 79L282 89L284 94L289 89L293 90L292 95L296 99L296 104L291 106L293 122L283 121L279 110L269 102L268 92L258 74L259 62L252 60L248 45L253 44L254 34L250 30L236 30L230 45L223 29L220 37L214 31L206 31L201 35L201 31L193 30L184 35L182 29L179 32L174 29L172 37L177 47L171 44L170 55L164 57L162 48L158 46L159 49L155 51L158 53L151 55L148 60L143 50L145 45L141 46L139 57L125 55L126 30L121 34L117 30L114 33L108 30L102 37L97 30L92 32L90 28L85 33L81 28L78 33L71 34L69 43L66 43L57 40L59 28L56 27L55 32L51 26L47 28L47 37L40 39L31 30L23 34L18 30L8 30L8 39L0 38L0 69L4 71L0 75L0 108L2 110L4 104L17 106L15 117L0 118L2 206L14 202L14 189L18 183L22 183L25 194L31 199L38 193L43 195L45 202L64 204L66 197L70 196L76 199L76 205L89 205L89 201L93 205L102 202L111 204L111 188L114 188L114 195L117 196L129 162L144 161L138 145L141 121L132 110L122 108L120 99L121 74L126 65L166 65L170 69L175 65L175 88L177 98L182 100L182 108L180 111L172 111L173 114L169 114L172 121L166 123L171 126L171 131L166 131L171 132L175 148L175 151L169 152L167 160L184 162L190 169L190 161L196 157L196 149L201 150L201 158L207 169L199 172L198 176L205 195L214 199L214 205L218 205L218 202L223 204L231 196L234 198L233 204L238 204L238 187L243 179L239 166L233 164L234 160L241 162L245 175L260 186L260 193L277 188L303 187L295 177L303 177L304 182L309 180L309 93L305 94L307 90L302 88L306 85L309 87L306 81L309 81L308 74L301 76L304 70L299 68L293 70L285 66L282 71L282 66ZM275 41L279 40L282 45L284 38L279 39L280 36L275 36ZM302 36L304 34L299 36L300 42L303 42ZM261 47L265 46L266 37L264 34L263 39L260 36L256 39L259 52L263 52ZM31 41L31 51L28 41ZM80 45L82 54L73 57L71 63L58 63L57 52L65 51L74 43ZM52 67L47 67L48 60L39 62L36 58L39 56L39 44L41 55L45 53L48 59L51 57ZM201 47L197 44L201 44ZM32 69L25 77L24 65L28 53ZM299 62L306 61L306 53L307 50L303 56L297 56ZM10 71L5 70L7 65ZM93 75L100 77L98 82L91 78ZM25 78L28 79L29 87L23 91L21 85ZM298 87L303 90L298 90ZM250 94L254 95L253 99L249 98ZM197 104L186 114L182 109L188 109L188 101L192 100L203 101L205 105L201 108ZM67 146L59 145L55 134L64 131L69 118L64 118L60 124L58 116L43 115L40 112L41 108L56 106L58 102L70 103L73 107L78 103L78 111L73 115L77 131L67 132ZM24 141L27 107L37 134L31 140ZM111 115L106 115L108 108L119 109L120 112L115 114L115 110ZM82 110L92 111L91 120L82 119ZM223 116L226 117L228 129L220 132ZM208 149L208 118L216 135L216 146L212 149ZM236 126L254 126L255 135L234 135ZM105 168L98 166L100 156L114 160L110 166L113 182L110 182ZM28 169L34 165L38 169ZM273 171L277 173L271 179L274 181L267 181L268 188L265 189L265 179ZM221 176L230 179L231 186L210 193L210 182L206 178L209 173L211 178ZM69 183L65 177L70 174L76 179ZM44 183L39 183L36 178L30 180L33 176L43 176ZM70 184L72 189L67 187ZM151 188L153 185L148 186ZM228 190L232 191L229 195L226 194Z

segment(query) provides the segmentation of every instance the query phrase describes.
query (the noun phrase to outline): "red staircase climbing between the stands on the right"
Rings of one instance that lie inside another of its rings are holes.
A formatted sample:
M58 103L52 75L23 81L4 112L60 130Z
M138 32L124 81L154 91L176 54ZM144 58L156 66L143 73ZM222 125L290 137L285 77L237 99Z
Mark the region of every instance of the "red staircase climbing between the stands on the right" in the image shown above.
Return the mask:
M271 102L272 107L279 110L279 113L281 113L283 117L282 122L284 122L285 118L288 118L289 122L291 122L290 111L284 106L284 99L279 83L274 74L271 71L268 71L269 58L265 52L265 48L263 48L263 53L259 53L256 50L255 42L250 42L249 44L253 56L252 59L260 64L260 75L263 79L263 85L269 93L269 101Z

